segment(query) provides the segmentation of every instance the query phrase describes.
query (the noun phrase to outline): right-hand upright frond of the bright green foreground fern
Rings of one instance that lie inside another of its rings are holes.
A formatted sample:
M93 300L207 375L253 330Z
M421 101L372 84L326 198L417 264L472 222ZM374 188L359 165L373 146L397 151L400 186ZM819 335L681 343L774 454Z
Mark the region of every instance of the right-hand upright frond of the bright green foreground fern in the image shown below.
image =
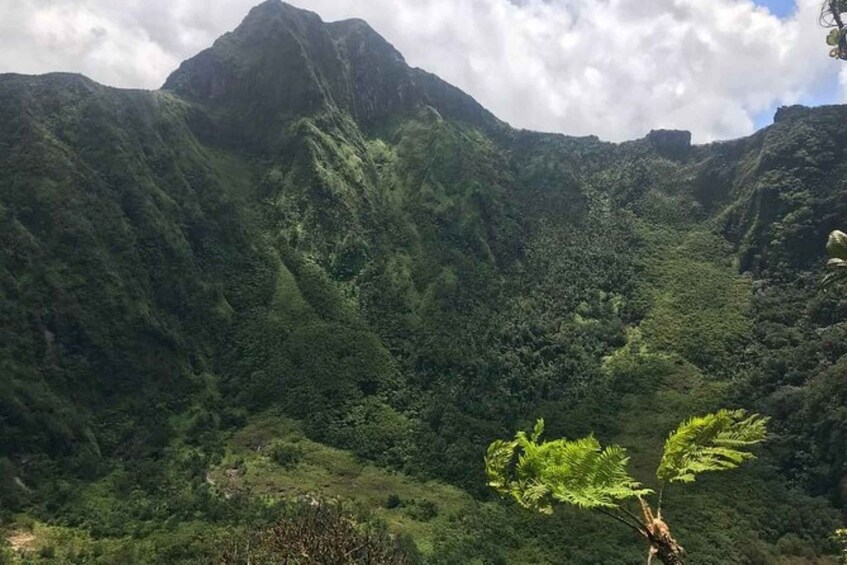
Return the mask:
M738 467L754 455L747 448L764 441L768 418L744 410L720 410L691 418L665 441L656 475L661 481L690 483L698 474Z

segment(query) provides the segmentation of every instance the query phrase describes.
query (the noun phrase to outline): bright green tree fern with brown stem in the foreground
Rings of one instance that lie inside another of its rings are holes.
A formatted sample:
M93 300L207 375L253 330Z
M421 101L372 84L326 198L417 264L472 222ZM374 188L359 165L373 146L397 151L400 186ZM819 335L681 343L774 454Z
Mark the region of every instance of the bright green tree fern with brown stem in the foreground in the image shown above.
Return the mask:
M707 471L726 471L753 459L749 448L765 439L768 419L744 410L720 410L691 418L668 436L656 471L658 494L627 472L629 457L617 445L603 448L593 436L539 441L544 420L529 434L497 440L488 447L488 484L525 508L550 514L555 503L600 512L635 531L648 545L648 564L658 558L681 564L684 551L662 517L669 483L691 483ZM655 509L647 497L656 495ZM633 500L638 510L625 503Z

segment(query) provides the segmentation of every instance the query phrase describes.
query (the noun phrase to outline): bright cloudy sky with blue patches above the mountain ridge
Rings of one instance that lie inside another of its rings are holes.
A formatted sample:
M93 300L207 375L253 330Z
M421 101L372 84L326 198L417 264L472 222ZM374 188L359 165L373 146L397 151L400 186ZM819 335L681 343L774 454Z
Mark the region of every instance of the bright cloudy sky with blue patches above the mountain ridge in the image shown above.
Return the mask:
M156 88L257 1L0 0L0 71ZM610 140L683 128L697 141L750 133L843 72L819 0L797 1L780 19L752 0L291 0L369 21L517 127Z

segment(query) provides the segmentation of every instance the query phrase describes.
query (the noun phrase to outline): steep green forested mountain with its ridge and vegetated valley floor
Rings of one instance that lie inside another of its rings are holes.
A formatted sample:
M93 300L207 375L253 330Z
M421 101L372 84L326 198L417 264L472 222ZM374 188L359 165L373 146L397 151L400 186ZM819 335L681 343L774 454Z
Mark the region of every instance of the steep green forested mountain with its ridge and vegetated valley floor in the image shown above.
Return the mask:
M277 0L158 91L0 75L4 537L208 562L309 494L423 562L631 563L602 519L493 499L488 443L543 416L649 483L680 420L738 406L772 437L669 493L690 562L834 562L847 302L817 283L845 124L515 130L366 23Z

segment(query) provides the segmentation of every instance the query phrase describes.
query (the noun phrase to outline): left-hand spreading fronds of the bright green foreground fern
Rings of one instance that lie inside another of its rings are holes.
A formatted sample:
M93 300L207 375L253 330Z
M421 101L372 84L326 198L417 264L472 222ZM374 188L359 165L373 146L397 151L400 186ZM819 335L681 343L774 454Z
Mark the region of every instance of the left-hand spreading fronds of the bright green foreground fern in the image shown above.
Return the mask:
M553 502L580 508L613 508L618 501L650 494L627 473L626 450L605 449L593 437L539 443L544 429L539 420L531 436L515 434L514 441L498 440L488 447L488 484L525 508L548 514Z

